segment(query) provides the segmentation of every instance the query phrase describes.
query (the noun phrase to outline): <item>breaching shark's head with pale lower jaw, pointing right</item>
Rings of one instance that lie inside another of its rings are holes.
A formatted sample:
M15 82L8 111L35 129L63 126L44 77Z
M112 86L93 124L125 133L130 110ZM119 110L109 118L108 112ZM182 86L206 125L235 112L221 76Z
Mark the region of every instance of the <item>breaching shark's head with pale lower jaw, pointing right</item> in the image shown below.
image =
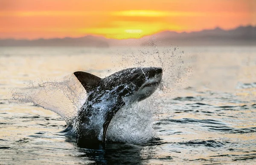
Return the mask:
M105 84L115 89L125 100L141 101L157 89L163 70L159 67L128 68L106 77Z

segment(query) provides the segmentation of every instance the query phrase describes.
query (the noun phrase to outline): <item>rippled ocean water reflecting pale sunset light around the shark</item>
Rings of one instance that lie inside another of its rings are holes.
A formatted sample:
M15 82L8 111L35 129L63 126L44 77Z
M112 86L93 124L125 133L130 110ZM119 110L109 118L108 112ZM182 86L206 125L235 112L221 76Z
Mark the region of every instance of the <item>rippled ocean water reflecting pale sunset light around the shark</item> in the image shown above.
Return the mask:
M246 46L2 47L0 164L255 164L255 52ZM84 102L74 71L103 78L138 66L162 67L163 82L116 114L108 130L116 142L80 148L59 133L66 123L47 109L73 113ZM157 139L147 141L150 136Z

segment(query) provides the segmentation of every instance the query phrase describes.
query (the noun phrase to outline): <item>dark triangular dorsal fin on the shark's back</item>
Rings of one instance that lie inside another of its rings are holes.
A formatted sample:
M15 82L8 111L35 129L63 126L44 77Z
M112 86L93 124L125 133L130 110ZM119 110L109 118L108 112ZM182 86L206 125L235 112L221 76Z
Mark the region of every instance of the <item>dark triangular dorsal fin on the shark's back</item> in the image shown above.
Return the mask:
M74 75L87 92L92 91L93 88L98 85L99 81L102 80L101 78L84 71L76 71L74 72Z

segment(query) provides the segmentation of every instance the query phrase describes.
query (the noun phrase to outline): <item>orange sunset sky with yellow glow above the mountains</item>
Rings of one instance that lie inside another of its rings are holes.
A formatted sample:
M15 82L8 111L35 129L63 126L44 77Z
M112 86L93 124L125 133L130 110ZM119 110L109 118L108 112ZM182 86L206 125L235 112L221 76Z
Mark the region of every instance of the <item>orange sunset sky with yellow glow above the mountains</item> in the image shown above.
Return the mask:
M256 0L0 0L0 38L139 38L256 25Z

